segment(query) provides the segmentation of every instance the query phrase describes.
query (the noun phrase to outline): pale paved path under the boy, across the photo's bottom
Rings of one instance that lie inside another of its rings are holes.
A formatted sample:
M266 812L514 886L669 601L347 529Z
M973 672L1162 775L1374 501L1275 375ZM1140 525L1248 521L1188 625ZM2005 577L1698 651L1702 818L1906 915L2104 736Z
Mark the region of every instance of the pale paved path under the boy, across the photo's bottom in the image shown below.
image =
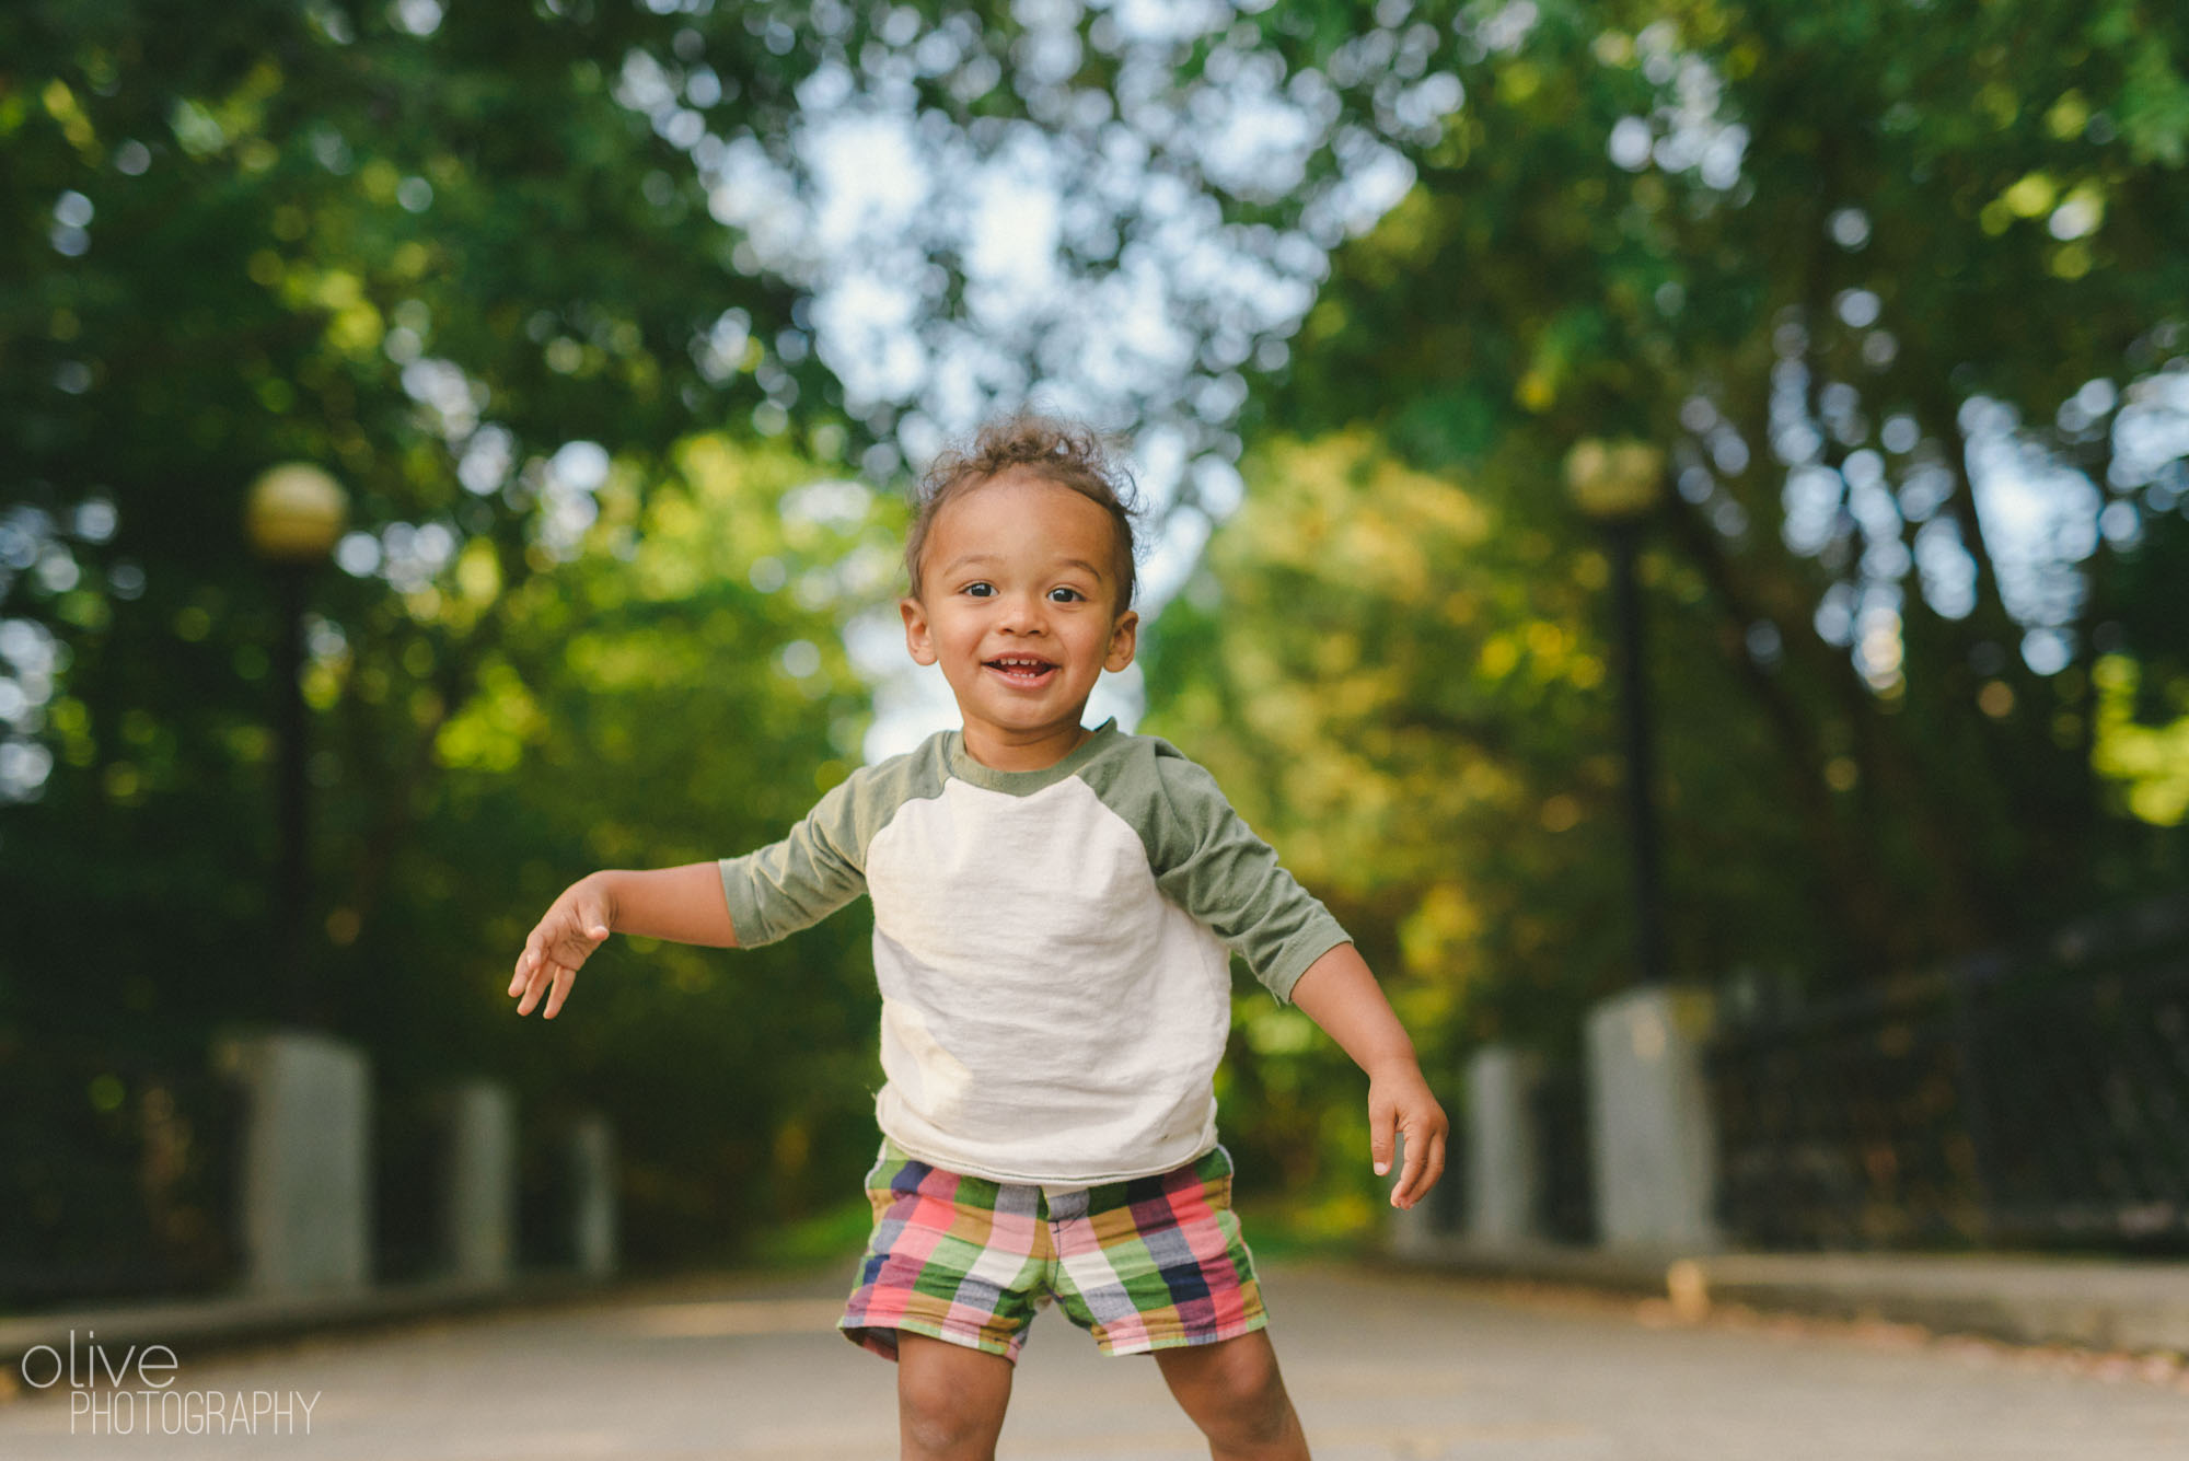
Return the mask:
M1348 1269L1267 1273L1322 1461L2182 1461L2189 1382L1812 1321L1672 1325L1661 1304ZM193 1360L173 1391L300 1391L258 1435L90 1435L63 1387L0 1406L0 1457L867 1461L893 1454L884 1363L836 1339L836 1284L687 1284ZM79 1343L83 1336L79 1336ZM234 1402L228 1400L232 1406ZM291 1402L293 1404L293 1402ZM175 1415L184 1413L177 1402ZM74 1424L74 1435L70 1426ZM1206 1457L1147 1360L1035 1323L1005 1457Z

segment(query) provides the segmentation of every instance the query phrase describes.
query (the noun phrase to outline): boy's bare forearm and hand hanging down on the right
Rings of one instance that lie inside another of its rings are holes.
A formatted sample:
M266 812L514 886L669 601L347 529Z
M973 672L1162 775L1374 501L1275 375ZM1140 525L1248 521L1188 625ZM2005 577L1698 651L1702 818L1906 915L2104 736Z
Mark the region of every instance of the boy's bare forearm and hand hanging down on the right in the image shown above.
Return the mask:
M1445 1109L1429 1094L1399 1015L1375 982L1368 960L1342 943L1307 967L1292 986L1307 1010L1353 1063L1368 1072L1368 1155L1377 1177L1390 1170L1392 1133L1405 1137L1405 1168L1390 1192L1392 1207L1412 1207L1445 1172Z

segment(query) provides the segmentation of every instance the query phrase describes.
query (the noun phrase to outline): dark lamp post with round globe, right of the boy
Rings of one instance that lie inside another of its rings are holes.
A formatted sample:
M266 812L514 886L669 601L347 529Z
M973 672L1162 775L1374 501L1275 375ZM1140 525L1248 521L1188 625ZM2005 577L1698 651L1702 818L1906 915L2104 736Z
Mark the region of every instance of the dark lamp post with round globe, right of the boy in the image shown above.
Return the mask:
M1620 730L1626 763L1626 831L1631 838L1635 969L1642 984L1661 984L1664 897L1657 873L1655 757L1651 748L1648 669L1642 652L1642 593L1635 553L1642 525L1664 501L1664 451L1648 442L1585 437L1565 455L1565 488L1574 505L1605 534L1611 553L1611 597L1620 641Z

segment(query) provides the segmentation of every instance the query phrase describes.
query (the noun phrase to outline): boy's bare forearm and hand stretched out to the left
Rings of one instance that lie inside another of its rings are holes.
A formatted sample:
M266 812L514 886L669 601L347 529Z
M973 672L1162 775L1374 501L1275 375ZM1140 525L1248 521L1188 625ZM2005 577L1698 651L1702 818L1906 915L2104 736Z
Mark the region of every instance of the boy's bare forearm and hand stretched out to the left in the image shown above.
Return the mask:
M510 978L517 1013L530 1015L547 995L541 1019L554 1019L578 980L578 965L606 943L609 934L698 943L711 949L738 947L738 930L722 897L722 868L690 862L652 873L604 870L580 877L563 890L525 938Z

